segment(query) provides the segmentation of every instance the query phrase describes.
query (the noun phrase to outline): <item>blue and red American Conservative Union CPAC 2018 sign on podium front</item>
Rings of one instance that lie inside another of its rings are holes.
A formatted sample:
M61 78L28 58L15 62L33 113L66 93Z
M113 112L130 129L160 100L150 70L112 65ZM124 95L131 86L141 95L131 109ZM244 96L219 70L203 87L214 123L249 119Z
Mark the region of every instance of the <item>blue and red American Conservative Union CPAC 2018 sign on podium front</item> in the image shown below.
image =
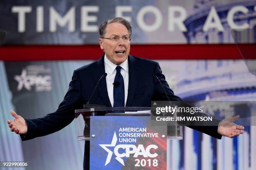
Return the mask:
M166 169L166 127L147 116L93 116L90 169Z

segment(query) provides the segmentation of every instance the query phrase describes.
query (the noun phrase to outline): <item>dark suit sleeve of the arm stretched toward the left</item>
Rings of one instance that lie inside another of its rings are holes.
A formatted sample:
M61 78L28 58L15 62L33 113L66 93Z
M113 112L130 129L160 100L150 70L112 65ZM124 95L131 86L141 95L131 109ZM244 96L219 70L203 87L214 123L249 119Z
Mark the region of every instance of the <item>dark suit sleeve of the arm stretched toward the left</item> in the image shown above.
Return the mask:
M69 89L56 112L50 113L42 118L25 119L28 131L26 134L20 135L21 139L30 140L49 135L69 125L74 120L74 110L82 108L80 86L79 76L75 70L72 81L69 83Z

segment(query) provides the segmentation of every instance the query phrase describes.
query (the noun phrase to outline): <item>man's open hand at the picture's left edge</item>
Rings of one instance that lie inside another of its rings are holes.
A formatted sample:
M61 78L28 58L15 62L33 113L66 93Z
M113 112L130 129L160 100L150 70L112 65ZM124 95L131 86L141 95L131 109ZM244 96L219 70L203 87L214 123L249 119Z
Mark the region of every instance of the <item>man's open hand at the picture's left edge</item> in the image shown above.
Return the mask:
M7 121L11 131L17 134L27 133L27 124L23 117L17 115L17 113L13 110L10 110L10 114L15 118L14 120Z

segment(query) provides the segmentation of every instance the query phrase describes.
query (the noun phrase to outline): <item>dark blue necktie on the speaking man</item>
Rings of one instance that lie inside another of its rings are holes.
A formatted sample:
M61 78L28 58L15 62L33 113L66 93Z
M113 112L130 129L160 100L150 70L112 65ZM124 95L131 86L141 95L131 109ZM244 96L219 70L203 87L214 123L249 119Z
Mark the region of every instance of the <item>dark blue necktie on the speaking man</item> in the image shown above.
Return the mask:
M120 66L117 66L115 68L116 75L115 75L115 80L113 83L113 85L114 85L114 93L113 93L114 94L114 107L124 107L124 82L123 82L123 76L121 75L121 68L122 67L120 67Z

